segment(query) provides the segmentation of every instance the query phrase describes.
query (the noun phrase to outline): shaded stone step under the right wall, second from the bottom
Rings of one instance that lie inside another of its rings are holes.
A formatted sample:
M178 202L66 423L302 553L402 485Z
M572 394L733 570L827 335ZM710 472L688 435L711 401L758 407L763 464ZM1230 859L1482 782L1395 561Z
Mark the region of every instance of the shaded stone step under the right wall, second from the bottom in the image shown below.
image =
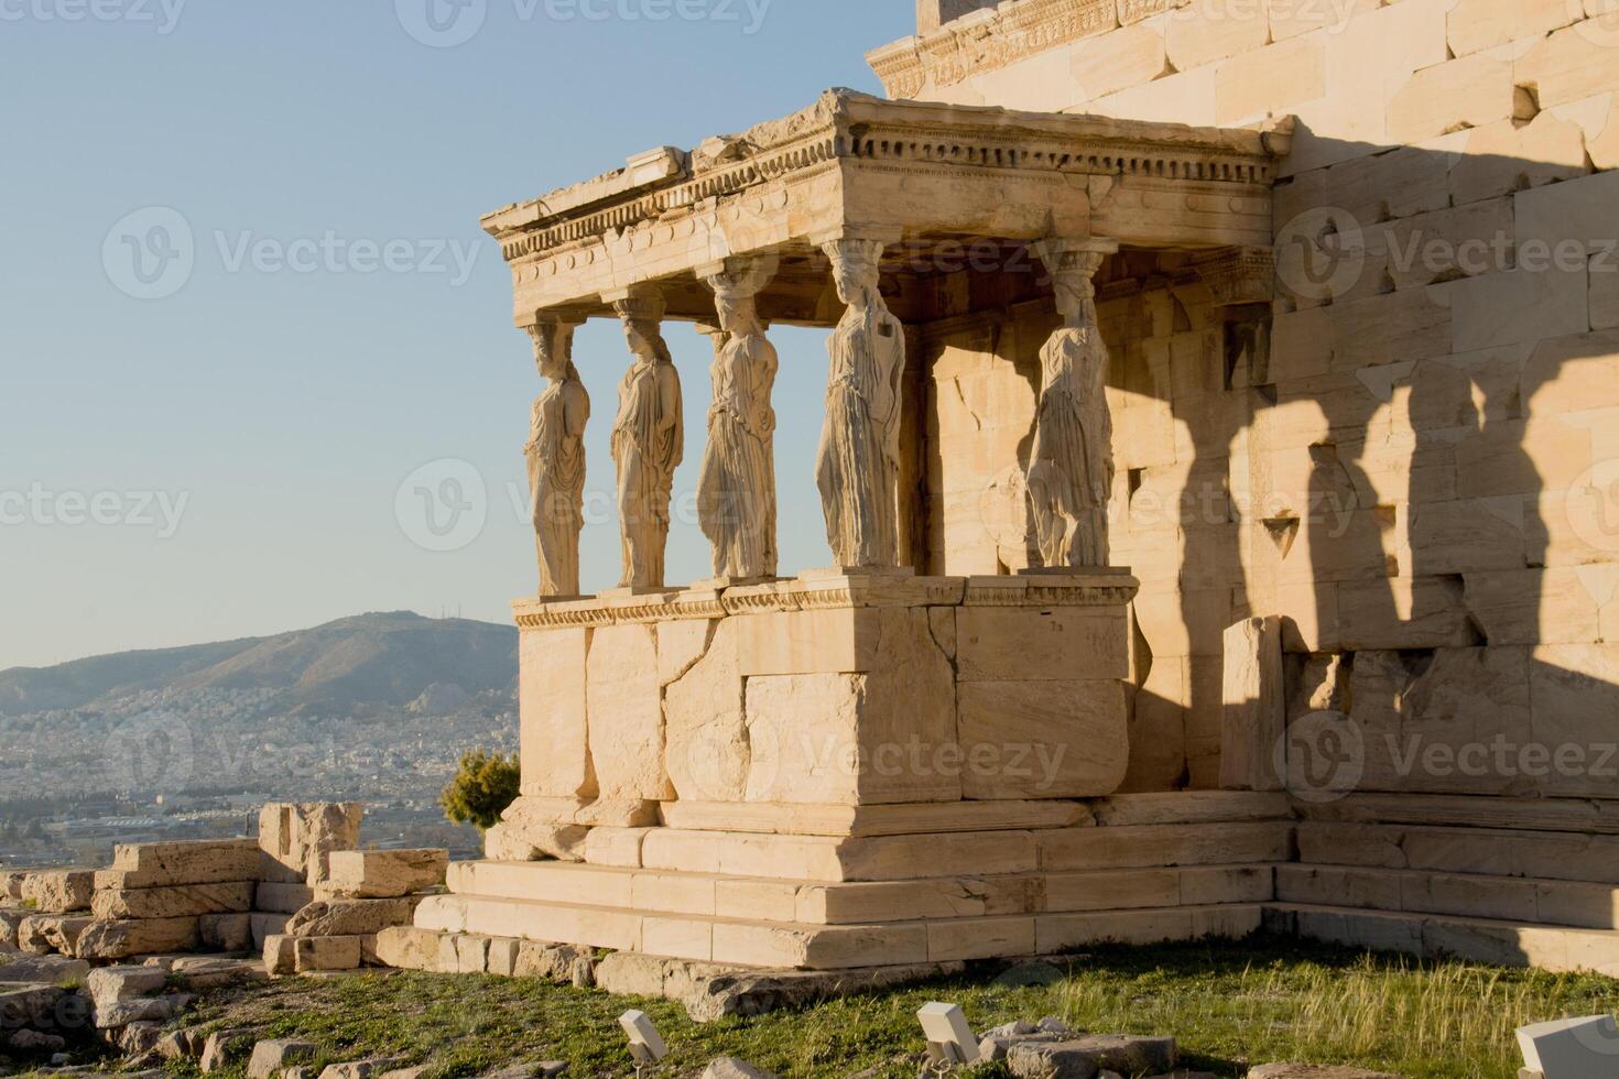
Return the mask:
M1619 929L1619 886L1362 865L1277 865L1282 903Z

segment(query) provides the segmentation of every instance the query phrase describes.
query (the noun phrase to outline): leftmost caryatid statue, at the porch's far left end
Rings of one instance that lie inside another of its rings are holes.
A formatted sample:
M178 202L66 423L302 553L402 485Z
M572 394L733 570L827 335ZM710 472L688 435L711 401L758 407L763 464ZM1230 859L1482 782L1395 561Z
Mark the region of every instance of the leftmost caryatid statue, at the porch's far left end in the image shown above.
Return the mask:
M580 594L580 531L584 527L584 424L591 398L573 366L573 322L541 319L529 327L546 390L534 398L528 430L528 492L539 550L539 594Z

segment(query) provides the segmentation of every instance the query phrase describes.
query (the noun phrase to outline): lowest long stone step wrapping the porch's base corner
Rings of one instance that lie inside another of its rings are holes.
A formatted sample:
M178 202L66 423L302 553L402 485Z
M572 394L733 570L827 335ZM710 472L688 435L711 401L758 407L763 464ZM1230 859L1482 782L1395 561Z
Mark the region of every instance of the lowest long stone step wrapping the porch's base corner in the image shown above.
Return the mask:
M1149 908L1086 914L962 917L929 922L810 925L468 895L429 896L416 927L546 940L674 959L829 971L994 956L1049 954L1103 941L1240 938L1263 904Z

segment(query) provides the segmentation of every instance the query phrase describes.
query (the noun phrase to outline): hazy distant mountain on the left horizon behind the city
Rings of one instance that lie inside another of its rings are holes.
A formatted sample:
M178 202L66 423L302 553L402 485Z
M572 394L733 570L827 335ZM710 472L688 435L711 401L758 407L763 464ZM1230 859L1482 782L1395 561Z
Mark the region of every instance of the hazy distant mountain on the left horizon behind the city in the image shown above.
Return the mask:
M411 611L58 666L0 671L0 715L96 710L144 692L270 691L291 712L366 715L516 686L516 629Z

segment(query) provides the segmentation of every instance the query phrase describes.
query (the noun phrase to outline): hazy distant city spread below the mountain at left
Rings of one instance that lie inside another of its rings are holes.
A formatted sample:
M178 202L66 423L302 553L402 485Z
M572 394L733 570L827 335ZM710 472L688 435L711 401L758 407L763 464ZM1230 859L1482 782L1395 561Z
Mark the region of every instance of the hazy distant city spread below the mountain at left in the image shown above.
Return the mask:
M0 869L107 865L118 843L253 835L272 801L358 801L369 848L474 857L439 791L470 749L513 752L510 692L434 688L364 717L304 713L285 691L151 691L94 709L0 715Z

